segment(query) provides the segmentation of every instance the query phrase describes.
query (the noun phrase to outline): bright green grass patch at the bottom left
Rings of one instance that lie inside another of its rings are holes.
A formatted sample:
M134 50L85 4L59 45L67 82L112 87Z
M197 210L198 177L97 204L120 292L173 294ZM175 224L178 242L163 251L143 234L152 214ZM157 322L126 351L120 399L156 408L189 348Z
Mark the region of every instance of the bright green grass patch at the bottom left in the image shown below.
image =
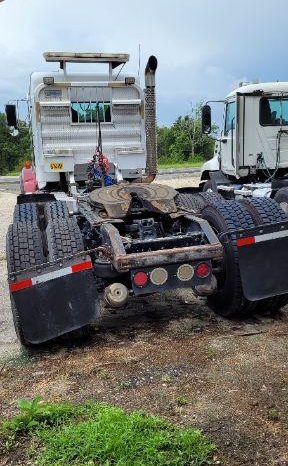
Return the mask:
M200 466L215 450L195 429L184 429L142 412L95 402L84 405L19 404L20 414L0 426L0 444L30 439L37 466Z

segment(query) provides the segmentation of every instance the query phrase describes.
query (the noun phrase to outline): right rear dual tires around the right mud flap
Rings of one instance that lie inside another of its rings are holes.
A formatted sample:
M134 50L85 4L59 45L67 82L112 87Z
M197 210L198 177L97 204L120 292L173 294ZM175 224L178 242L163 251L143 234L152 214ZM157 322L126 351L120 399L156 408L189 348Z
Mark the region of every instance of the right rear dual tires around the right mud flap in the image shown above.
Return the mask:
M222 270L217 276L218 291L208 297L208 304L216 313L224 317L253 313L275 313L288 302L287 295L249 301L244 297L238 247L233 230L253 228L288 220L287 215L271 199L245 201L218 201L202 210L202 217L219 235L224 249ZM228 235L227 235L228 233Z

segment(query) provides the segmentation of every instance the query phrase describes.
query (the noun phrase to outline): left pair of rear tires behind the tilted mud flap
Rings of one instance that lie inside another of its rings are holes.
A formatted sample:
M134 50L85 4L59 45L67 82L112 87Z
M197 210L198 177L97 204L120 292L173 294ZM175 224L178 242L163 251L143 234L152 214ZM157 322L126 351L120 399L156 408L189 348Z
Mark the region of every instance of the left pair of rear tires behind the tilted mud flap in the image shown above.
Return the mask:
M47 203L44 206L44 212L48 225L46 231L41 231L38 226L36 204L19 204L15 207L14 223L9 226L6 238L7 267L10 278L15 272L41 266L47 262L47 258L50 261L64 259L84 250L81 231L75 218L69 217L65 203L59 201ZM44 255L45 250L46 255L48 253L47 257ZM35 346L24 336L21 313L17 309L13 293L10 293L10 299L14 328L20 343L26 347ZM87 325L65 336L69 339L82 339L90 333L91 327Z

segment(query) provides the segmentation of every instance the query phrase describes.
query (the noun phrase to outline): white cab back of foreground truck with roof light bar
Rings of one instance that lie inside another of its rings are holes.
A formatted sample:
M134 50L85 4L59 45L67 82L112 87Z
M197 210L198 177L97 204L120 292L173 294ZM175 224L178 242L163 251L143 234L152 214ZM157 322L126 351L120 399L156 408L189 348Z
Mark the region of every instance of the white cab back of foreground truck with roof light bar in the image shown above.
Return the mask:
M44 54L59 62L58 72L34 72L29 108L34 167L39 189L87 178L99 139L116 181L141 178L146 167L144 97L139 78L121 74L127 54ZM76 73L67 64L106 64L106 73Z

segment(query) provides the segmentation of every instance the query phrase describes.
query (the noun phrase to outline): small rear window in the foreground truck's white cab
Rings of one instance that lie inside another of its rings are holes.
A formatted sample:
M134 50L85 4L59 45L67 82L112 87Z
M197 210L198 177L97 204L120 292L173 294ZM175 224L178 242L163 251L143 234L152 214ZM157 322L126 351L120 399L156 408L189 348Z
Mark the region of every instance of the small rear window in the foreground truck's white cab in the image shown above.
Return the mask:
M110 102L71 102L72 123L111 122Z

